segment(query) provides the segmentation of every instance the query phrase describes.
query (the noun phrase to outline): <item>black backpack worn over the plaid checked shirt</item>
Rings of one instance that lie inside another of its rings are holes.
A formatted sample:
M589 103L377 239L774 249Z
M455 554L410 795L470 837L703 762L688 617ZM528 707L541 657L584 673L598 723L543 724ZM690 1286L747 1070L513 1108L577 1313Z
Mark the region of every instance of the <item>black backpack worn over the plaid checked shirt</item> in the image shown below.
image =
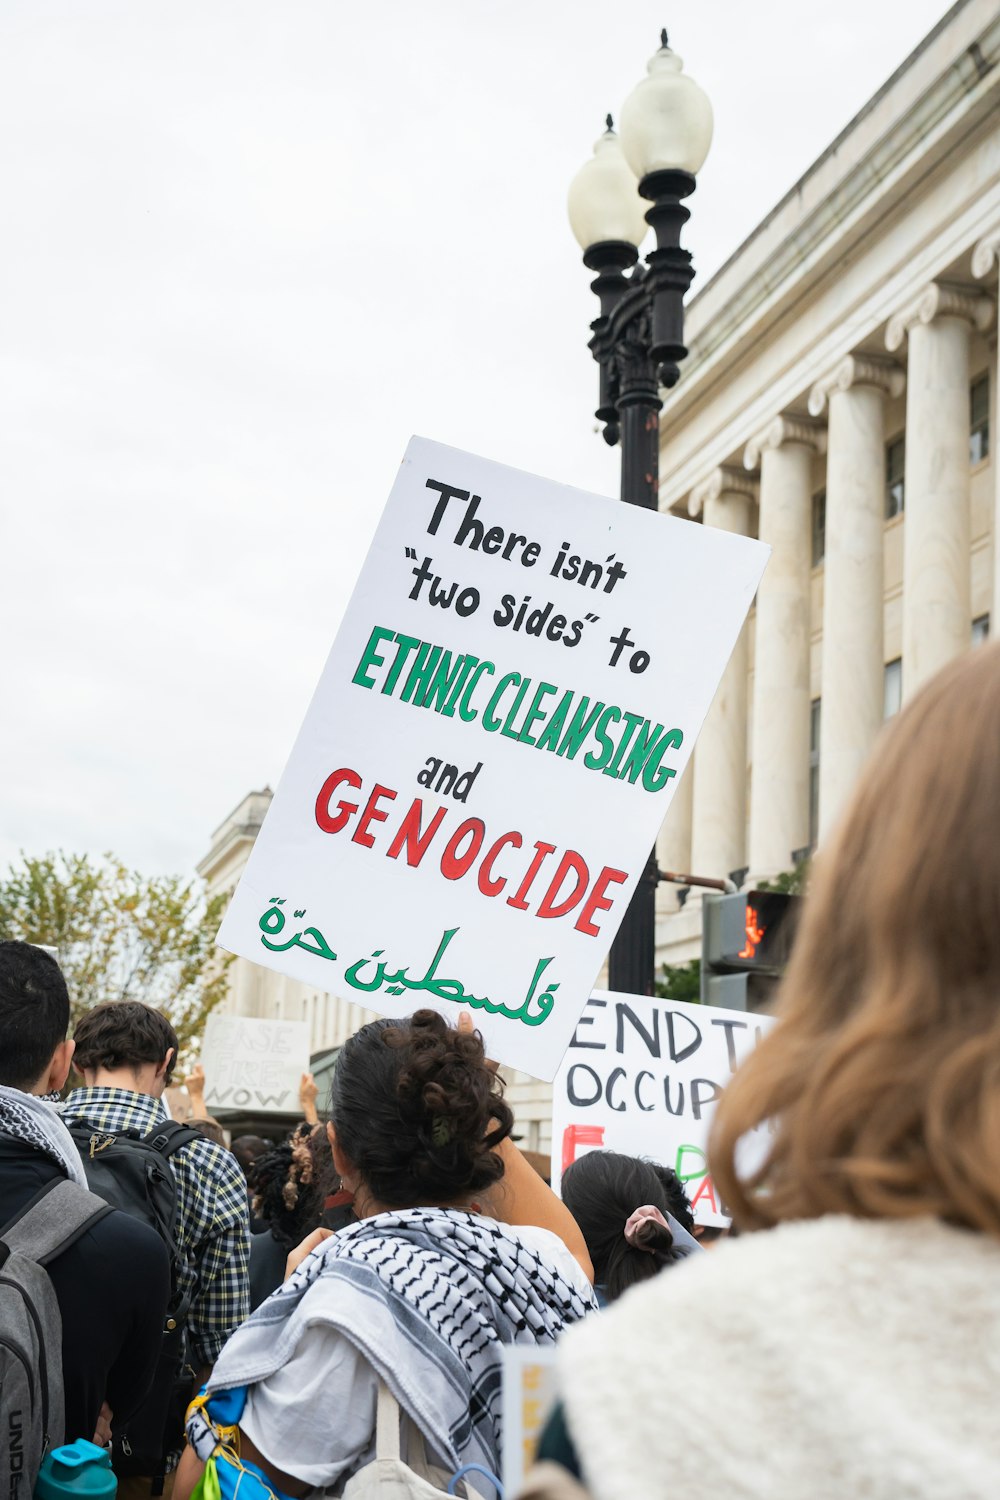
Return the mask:
M112 1424L115 1473L151 1478L156 1496L162 1492L169 1454L183 1443L184 1412L193 1395L187 1312L196 1287L180 1287L184 1257L177 1246L177 1180L169 1158L201 1136L177 1120L163 1120L148 1136L136 1130L112 1134L85 1119L66 1124L82 1158L90 1191L154 1228L169 1252L171 1294L153 1388L126 1424Z

